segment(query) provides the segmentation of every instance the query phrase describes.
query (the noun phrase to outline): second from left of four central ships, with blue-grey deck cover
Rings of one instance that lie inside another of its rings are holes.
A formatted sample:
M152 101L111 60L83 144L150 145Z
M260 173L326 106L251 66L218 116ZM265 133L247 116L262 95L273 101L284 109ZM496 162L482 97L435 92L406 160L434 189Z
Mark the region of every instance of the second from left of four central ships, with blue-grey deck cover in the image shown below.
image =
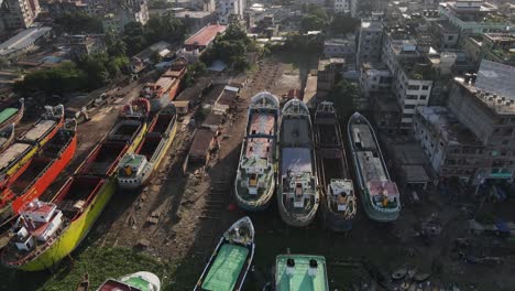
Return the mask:
M309 110L292 99L282 110L278 140L278 209L292 226L309 225L318 209L320 194Z

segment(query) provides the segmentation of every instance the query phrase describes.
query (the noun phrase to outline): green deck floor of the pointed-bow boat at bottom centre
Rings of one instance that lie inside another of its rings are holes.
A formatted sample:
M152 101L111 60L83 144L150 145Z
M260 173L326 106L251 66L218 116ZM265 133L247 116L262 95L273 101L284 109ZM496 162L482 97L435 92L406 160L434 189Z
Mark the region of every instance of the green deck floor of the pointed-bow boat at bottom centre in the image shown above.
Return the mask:
M223 244L202 282L202 290L233 290L249 256L242 246Z

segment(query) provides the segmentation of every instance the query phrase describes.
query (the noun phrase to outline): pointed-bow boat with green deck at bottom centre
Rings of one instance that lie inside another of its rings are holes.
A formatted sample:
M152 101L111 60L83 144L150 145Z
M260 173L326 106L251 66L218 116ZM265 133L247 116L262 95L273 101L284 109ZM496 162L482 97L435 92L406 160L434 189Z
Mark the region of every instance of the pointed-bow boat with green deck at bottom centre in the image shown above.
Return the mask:
M254 258L254 226L245 216L223 234L194 291L244 290L242 287Z

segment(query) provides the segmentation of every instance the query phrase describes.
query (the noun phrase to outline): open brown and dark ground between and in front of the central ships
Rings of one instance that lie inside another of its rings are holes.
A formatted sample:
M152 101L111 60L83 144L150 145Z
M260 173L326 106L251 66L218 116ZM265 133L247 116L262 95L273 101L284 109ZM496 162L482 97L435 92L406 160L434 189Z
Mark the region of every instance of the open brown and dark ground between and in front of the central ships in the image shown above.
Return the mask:
M385 278L404 265L414 266L423 272L435 272L430 283L426 283L427 288L456 283L460 290L511 290L515 285L515 279L509 276L515 271L511 252L513 246L495 238L471 237L464 230L467 216L460 212L460 207L449 204L446 197L436 193L426 197L420 205L405 205L402 217L395 224L375 224L360 213L353 230L348 235L325 231L317 223L305 229L287 227L281 222L274 204L258 214L246 214L234 207L232 183L249 98L261 90L281 97L292 88L302 89L300 75L292 64L277 60L261 61L258 68L248 75L241 100L222 127L220 150L209 165L193 173L183 172L182 164L193 136L191 129L183 127L167 161L151 185L142 194L118 193L113 198L116 202L108 206L97 224L95 241L105 247L144 249L160 260L178 263L185 271L184 274L178 273L176 280L185 282L180 285L193 285L223 230L237 218L250 215L256 229L258 248L248 290L261 290L272 281L275 256L287 251L326 256L331 288L338 290L365 284L372 288L369 290L377 288L370 270L362 267L363 260L371 261ZM147 223L153 215L158 217L157 224ZM441 234L421 239L416 229L431 216L437 217ZM464 262L453 248L454 239L464 237L483 241L483 245L487 244L484 241L495 240L496 251L487 254L485 248L481 251L489 256L503 254L503 263ZM185 266L185 261L190 268ZM399 282L391 288L399 288Z

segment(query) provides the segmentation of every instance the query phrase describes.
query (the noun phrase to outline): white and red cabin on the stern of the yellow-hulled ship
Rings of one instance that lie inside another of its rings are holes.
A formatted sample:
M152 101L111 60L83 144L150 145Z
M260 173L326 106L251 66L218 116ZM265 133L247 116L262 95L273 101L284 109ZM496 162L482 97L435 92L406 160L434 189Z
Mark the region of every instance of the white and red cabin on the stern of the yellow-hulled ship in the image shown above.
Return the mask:
M31 250L37 242L48 241L63 224L63 212L52 203L33 201L20 213L13 229L19 250Z

